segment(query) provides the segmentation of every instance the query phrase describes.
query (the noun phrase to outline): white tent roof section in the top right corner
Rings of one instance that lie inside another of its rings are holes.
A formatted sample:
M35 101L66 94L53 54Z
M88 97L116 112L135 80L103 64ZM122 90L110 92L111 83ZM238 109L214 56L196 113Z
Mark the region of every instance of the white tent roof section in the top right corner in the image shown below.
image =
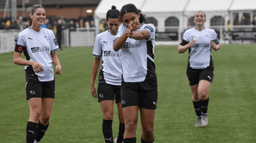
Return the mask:
M230 11L256 10L256 1L255 0L234 0L229 10Z

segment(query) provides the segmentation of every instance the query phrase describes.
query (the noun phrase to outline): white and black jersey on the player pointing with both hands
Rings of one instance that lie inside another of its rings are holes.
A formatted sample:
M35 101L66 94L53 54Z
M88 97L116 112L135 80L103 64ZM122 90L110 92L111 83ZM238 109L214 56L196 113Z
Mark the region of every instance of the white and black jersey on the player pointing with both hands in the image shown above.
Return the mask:
M115 39L123 35L125 24L121 24ZM142 82L156 76L154 66L154 39L156 29L153 24L141 24L140 29L134 32L146 30L148 39L128 39L121 48L123 80L125 82Z

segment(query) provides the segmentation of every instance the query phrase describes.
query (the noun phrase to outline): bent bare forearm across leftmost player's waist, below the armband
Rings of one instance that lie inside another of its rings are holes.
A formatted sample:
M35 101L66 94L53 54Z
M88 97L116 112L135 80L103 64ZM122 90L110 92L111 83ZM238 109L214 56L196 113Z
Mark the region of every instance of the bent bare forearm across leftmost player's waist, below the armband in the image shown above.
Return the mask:
M17 65L31 65L32 68L34 68L34 70L37 73L39 73L39 72L44 70L42 68L42 65L40 65L40 63L29 61L29 60L25 60L25 59L21 58L21 53L19 53L19 52L14 52L13 62L15 64L17 64Z

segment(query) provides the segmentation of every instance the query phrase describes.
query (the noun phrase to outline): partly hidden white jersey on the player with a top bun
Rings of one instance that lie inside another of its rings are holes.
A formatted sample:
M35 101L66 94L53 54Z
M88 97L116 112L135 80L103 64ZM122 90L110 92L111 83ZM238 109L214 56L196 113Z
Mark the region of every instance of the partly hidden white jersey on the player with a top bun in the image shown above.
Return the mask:
M102 68L99 73L99 83L121 85L121 52L113 50L115 35L109 30L97 35L93 48L93 57L102 57Z

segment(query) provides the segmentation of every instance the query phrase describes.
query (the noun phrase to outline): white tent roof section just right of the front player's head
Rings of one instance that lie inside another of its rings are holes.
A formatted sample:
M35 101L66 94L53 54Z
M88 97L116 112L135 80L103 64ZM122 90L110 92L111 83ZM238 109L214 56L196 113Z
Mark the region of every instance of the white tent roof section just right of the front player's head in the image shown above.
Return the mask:
M189 0L146 0L142 12L183 12Z

